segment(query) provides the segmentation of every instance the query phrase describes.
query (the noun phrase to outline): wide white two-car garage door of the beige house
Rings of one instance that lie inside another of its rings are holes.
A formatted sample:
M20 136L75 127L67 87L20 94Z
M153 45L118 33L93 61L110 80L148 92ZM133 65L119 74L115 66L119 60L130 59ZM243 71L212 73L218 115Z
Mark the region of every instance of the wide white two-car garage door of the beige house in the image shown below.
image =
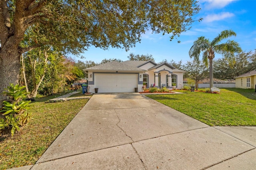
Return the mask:
M138 74L94 74L94 87L98 93L134 92L138 86Z

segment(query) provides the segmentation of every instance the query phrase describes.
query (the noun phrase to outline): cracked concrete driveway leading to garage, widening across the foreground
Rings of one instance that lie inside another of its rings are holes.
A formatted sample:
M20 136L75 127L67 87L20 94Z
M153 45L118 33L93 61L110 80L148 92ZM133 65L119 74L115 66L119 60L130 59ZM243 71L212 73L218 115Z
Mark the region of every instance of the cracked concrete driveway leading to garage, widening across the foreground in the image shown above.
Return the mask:
M29 166L33 170L255 167L256 127L209 127L139 93L93 95Z

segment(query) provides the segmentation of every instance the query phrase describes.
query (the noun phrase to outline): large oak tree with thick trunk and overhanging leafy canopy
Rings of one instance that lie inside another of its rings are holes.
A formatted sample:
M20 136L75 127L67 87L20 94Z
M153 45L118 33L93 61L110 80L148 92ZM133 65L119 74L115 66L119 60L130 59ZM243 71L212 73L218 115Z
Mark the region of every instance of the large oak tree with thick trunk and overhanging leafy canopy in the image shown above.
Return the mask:
M45 44L74 54L90 45L128 50L148 29L179 36L199 10L195 0L1 0L0 93L18 83L26 51Z

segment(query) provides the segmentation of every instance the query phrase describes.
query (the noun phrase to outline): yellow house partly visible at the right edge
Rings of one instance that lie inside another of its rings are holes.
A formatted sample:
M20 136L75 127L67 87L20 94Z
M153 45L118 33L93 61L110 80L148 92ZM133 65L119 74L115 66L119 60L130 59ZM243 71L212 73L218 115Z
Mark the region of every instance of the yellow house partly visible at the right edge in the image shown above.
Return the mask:
M256 85L256 70L249 71L235 77L236 79L236 88L242 89L255 89Z

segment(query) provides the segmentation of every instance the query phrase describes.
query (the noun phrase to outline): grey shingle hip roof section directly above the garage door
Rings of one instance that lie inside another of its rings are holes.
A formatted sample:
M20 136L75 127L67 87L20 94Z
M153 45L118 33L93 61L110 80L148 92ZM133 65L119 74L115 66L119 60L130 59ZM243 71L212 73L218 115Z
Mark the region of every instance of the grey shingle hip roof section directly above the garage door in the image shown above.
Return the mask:
M120 63L118 61L112 61L109 63L96 65L93 67L86 68L84 70L146 71L144 69L140 69L138 67L134 67L132 65L125 64L123 62Z

